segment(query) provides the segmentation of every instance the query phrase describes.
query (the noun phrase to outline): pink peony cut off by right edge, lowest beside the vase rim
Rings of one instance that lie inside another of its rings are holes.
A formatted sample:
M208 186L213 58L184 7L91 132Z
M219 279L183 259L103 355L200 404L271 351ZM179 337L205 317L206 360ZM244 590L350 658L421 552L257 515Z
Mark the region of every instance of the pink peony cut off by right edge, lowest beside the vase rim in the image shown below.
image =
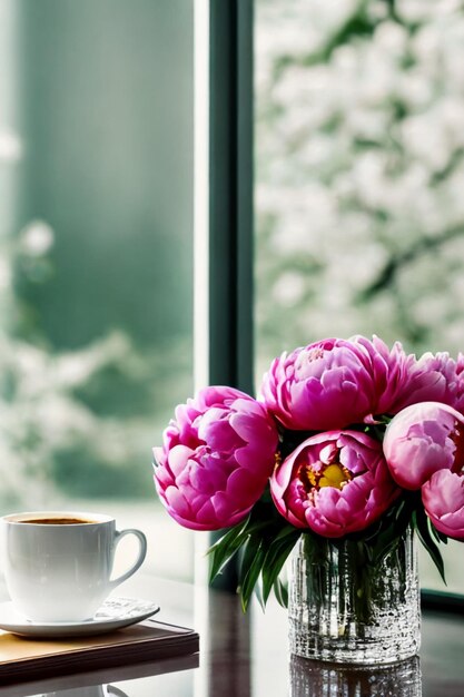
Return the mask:
M425 511L437 530L464 541L464 477L438 470L422 488Z

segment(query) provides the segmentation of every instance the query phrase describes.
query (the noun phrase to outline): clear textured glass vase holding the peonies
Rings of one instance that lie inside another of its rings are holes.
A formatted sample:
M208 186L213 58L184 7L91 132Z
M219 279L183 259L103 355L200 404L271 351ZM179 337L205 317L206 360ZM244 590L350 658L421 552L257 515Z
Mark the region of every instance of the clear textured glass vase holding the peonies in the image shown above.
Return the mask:
M290 565L289 646L295 656L384 665L415 656L421 642L415 538L407 530L381 563L363 544L303 534Z

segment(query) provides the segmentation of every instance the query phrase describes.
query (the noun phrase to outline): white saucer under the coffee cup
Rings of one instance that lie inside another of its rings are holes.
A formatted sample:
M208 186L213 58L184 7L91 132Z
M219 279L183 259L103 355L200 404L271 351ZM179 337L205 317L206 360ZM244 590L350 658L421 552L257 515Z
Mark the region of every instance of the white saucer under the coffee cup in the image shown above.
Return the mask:
M82 622L33 622L12 602L0 603L0 629L28 637L83 637L128 627L151 617L159 605L136 598L108 598L92 619Z

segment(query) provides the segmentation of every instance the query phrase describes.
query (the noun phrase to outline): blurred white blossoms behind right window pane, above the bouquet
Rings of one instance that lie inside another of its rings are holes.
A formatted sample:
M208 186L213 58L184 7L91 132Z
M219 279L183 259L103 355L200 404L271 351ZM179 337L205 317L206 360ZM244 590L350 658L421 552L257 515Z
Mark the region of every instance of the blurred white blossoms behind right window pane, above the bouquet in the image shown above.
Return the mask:
M257 0L257 382L356 333L464 346L464 4Z

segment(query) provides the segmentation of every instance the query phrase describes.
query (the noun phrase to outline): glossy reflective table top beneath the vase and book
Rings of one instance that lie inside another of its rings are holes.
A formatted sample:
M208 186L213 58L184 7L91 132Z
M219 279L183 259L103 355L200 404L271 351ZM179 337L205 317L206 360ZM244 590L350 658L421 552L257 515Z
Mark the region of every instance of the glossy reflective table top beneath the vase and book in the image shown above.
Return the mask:
M463 697L464 617L424 612L417 658L347 669L288 656L287 618L272 601L244 616L236 596L141 573L118 595L152 599L159 619L194 627L199 655L8 685L1 697Z

